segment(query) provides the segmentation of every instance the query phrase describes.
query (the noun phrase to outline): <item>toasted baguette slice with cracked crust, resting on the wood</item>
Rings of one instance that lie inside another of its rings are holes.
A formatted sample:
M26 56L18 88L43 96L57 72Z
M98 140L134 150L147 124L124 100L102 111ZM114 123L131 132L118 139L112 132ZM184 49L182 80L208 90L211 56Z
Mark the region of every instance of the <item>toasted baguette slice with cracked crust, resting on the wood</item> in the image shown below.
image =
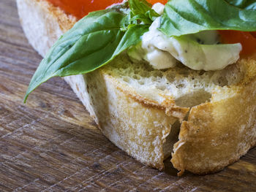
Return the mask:
M48 1L17 4L26 37L42 56L77 20ZM162 170L172 153L181 174L206 174L256 145L255 76L256 61L249 58L217 72L184 66L160 71L123 53L94 72L64 80L102 133L138 161Z

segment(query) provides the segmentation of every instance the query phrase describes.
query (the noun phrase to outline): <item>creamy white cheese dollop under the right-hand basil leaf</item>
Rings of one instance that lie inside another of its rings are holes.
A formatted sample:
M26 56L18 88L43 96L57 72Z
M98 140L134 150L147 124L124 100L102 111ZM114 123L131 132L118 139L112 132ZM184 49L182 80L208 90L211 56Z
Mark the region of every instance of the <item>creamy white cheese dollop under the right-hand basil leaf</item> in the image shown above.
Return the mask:
M143 34L141 44L145 52L142 58L155 69L167 69L180 61L195 70L219 70L235 63L239 58L241 44L217 45L216 31L167 37L157 29L160 20L160 17L154 20L149 31Z

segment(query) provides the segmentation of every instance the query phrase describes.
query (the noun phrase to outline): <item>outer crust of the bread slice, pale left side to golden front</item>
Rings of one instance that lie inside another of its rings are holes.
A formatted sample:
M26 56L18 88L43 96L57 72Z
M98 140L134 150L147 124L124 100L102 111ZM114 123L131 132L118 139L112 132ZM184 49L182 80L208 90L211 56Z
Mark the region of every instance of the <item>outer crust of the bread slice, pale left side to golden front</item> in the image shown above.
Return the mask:
M26 37L42 56L76 21L48 1L17 0L17 4ZM37 28L33 18L37 18ZM256 145L256 64L254 60L240 63L247 69L241 84L220 89L211 101L192 107L190 112L188 107L176 106L171 97L159 103L141 96L105 68L64 80L102 133L138 161L162 170L164 159L173 150L171 162L181 173L206 174L223 169ZM187 112L188 120L184 120ZM179 141L164 151L176 120L182 122Z

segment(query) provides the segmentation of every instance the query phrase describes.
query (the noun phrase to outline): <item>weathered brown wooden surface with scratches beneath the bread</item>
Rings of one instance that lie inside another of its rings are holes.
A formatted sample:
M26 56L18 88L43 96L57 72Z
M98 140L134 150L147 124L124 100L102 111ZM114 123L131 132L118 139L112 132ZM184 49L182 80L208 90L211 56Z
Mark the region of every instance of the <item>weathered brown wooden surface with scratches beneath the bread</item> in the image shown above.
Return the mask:
M256 148L222 172L176 177L109 142L60 78L23 104L41 59L20 28L15 0L1 0L0 191L256 191Z

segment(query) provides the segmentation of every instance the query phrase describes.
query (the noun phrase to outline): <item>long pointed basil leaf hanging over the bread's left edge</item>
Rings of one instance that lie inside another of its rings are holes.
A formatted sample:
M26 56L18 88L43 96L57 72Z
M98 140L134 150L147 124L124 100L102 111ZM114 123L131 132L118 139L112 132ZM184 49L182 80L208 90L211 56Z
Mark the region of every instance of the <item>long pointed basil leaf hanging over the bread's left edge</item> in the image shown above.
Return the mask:
M67 31L42 60L31 79L24 102L37 86L51 77L85 74L108 64L119 53L137 45L148 26L121 31L126 15L113 9L92 12Z

